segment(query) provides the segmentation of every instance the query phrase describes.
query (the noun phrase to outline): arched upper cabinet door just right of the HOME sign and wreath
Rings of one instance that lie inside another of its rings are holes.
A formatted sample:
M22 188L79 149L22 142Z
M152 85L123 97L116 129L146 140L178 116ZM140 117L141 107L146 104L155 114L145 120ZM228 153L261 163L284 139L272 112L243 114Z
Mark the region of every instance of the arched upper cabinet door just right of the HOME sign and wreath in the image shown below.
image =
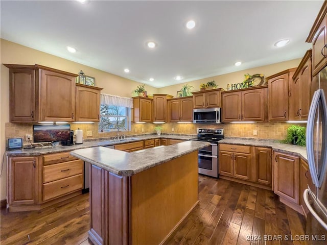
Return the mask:
M287 73L268 80L269 121L288 120L288 76Z

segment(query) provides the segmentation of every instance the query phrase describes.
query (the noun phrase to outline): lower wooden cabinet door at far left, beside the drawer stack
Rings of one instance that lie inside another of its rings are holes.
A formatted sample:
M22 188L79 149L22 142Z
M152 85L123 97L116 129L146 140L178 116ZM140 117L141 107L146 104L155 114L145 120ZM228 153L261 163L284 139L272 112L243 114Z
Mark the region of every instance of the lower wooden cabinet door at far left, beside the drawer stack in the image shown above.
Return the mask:
M38 160L36 157L11 157L8 169L9 205L36 204L38 200Z

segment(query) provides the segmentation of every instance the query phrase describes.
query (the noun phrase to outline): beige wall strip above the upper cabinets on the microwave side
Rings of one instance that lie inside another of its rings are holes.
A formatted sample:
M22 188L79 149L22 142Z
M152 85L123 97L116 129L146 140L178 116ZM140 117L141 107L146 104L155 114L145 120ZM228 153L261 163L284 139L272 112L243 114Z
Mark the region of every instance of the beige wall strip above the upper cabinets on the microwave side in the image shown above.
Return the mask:
M303 54L304 55L304 54ZM159 93L164 93L164 94L171 94L176 96L177 91L181 89L181 87L185 84L190 84L193 86L192 92L195 91L200 91L200 84L201 83L207 83L209 81L215 80L218 88L223 88L225 90L227 87L227 84L234 84L234 83L242 83L244 81L244 75L245 74L263 74L265 77L269 77L271 75L274 75L280 71L297 67L298 64L300 63L301 59L295 59L295 60L289 60L289 61L284 61L281 63L275 63L272 65L265 65L265 66L260 66L260 67L255 67L252 69L247 69L247 70L241 70L237 72L232 72L224 75L219 75L215 77L210 77L210 78L204 78L200 80L195 80L187 83L181 83L177 85L172 85L172 86L167 86L164 88L159 88Z

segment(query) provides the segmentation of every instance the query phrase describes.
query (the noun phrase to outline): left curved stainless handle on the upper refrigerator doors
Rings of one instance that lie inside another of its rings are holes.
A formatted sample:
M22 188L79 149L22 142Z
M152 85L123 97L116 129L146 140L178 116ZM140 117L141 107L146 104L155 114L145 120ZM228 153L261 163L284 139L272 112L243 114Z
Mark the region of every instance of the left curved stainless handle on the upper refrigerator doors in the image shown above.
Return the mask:
M318 179L318 173L317 173L317 169L315 166L315 162L314 162L314 152L313 152L313 128L315 125L315 115L316 115L316 111L317 111L317 107L318 107L318 103L319 103L319 95L320 95L321 91L320 90L316 90L314 92L314 95L312 97L312 102L310 105L310 110L309 110L309 115L308 115L308 122L307 122L307 153L308 153L308 165L309 165L309 169L310 169L310 174L312 177L312 182L314 183L314 185L316 187L320 187L319 186L319 179Z

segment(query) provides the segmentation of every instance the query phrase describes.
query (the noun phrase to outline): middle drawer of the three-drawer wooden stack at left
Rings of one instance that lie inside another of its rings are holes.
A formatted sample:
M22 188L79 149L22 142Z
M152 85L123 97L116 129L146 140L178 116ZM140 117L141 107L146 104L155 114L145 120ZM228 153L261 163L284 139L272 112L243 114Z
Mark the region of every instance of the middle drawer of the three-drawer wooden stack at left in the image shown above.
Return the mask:
M84 162L74 160L43 167L43 183L83 174Z

